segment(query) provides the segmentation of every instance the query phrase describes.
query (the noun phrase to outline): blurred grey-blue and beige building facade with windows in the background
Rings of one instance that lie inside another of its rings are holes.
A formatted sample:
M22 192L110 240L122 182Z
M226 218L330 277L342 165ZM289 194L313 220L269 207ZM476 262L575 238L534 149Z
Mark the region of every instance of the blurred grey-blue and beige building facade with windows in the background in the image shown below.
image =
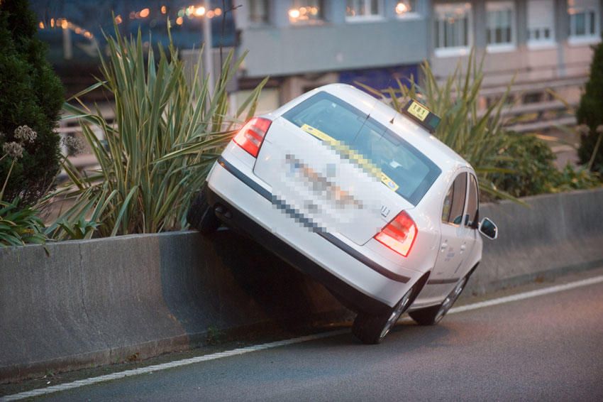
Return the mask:
M277 107L330 82L387 87L428 60L438 77L484 55L485 87L584 79L601 40L603 0L242 0L239 85L270 75Z

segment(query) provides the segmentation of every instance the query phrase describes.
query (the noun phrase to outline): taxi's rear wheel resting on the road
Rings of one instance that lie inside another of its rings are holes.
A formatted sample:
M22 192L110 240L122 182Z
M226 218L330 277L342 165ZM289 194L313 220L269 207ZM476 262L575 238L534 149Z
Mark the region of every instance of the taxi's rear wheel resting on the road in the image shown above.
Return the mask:
M400 316L414 301L414 288L410 288L397 305L387 314L368 315L358 313L352 326L352 333L365 344L379 344L398 322Z

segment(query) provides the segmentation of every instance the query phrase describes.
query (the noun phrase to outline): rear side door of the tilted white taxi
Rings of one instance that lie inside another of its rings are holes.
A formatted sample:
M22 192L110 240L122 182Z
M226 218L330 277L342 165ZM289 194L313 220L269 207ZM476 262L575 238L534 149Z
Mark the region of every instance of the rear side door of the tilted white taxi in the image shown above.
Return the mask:
M431 284L455 282L458 279L455 274L462 271L468 248L472 245L468 244L471 229L463 224L468 180L468 173L461 171L446 192L442 205L440 249L429 278Z

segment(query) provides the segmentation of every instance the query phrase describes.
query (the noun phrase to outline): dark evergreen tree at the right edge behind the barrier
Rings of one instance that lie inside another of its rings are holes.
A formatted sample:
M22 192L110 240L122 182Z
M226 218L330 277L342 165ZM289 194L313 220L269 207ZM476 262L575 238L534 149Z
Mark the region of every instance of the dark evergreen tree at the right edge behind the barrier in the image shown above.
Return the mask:
M586 124L590 132L581 134L578 155L581 163L588 163L592 157L599 133L597 127L603 125L603 42L594 47L590 78L586 83L577 109L578 124ZM600 131L600 129L599 129ZM603 143L599 146L592 170L603 173Z

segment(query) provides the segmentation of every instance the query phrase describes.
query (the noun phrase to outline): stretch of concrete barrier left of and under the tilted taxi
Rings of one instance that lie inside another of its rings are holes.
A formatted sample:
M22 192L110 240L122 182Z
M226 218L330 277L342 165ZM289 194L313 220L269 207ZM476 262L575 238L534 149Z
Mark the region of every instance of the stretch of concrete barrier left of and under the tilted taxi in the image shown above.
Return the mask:
M233 247L233 244L236 245ZM345 310L230 231L0 249L0 379L182 350L209 332L326 320Z

